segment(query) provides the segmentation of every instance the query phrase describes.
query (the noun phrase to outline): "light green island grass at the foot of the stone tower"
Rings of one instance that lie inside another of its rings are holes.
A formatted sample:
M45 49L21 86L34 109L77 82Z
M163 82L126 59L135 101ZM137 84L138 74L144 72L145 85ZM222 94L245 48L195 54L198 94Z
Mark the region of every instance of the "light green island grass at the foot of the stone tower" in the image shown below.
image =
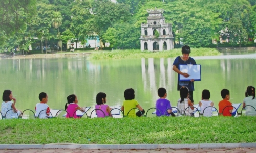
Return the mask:
M112 50L106 52L93 52L88 59L138 59L138 58L168 58L181 55L181 48L163 52L141 52L139 49ZM217 56L221 53L215 48L193 48L190 56Z

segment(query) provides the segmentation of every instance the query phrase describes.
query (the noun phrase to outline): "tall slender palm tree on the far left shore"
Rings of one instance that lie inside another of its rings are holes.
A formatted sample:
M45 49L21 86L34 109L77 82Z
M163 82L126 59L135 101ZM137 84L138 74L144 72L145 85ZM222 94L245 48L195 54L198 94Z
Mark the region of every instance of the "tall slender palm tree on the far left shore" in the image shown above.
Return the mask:
M62 52L62 42L60 40L59 27L62 24L62 20L63 20L63 18L61 16L61 13L56 10L56 12L53 13L53 17L52 17L52 26L54 28L58 28L58 35L57 35L57 37L59 37L59 44L60 44L61 52ZM58 47L58 51L57 52L59 52L59 47Z

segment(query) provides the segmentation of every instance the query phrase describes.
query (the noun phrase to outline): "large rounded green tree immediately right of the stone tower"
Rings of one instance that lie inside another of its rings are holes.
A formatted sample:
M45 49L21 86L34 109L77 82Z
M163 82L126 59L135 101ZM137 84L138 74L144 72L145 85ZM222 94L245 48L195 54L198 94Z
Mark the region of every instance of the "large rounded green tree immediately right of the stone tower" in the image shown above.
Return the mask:
M206 2L182 0L173 6L175 12L172 19L176 39L182 38L184 44L193 47L206 47L218 40L218 31L222 24L221 14L204 7Z

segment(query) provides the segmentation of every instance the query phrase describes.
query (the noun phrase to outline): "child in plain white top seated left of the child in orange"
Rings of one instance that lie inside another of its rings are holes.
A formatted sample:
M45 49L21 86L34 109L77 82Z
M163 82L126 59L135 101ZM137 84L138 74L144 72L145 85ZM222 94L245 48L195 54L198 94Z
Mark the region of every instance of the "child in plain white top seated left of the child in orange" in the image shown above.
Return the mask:
M202 100L199 101L199 107L201 109L201 113L204 113L203 116L210 117L212 116L212 108L214 106L214 102L212 102L210 99L210 91L207 89L204 89L202 91ZM211 107L209 107L211 106ZM206 108L208 107L208 108ZM206 108L206 109L205 109Z

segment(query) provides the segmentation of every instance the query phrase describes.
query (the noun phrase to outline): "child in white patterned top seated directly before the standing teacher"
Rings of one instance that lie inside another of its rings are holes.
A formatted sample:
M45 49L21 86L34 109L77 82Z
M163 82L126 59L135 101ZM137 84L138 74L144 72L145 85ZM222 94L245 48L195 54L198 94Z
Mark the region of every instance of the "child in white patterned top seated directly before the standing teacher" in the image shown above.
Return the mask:
M178 115L188 115L188 116L191 116L191 112L193 112L194 110L194 107L193 107L193 104L191 102L191 100L188 98L189 97L189 90L187 87L184 87L182 86L180 88L180 99L178 100L178 103L177 103L177 108L178 111L177 112L177 116ZM188 107L191 107L191 108L188 108ZM186 112L185 112L186 110Z

